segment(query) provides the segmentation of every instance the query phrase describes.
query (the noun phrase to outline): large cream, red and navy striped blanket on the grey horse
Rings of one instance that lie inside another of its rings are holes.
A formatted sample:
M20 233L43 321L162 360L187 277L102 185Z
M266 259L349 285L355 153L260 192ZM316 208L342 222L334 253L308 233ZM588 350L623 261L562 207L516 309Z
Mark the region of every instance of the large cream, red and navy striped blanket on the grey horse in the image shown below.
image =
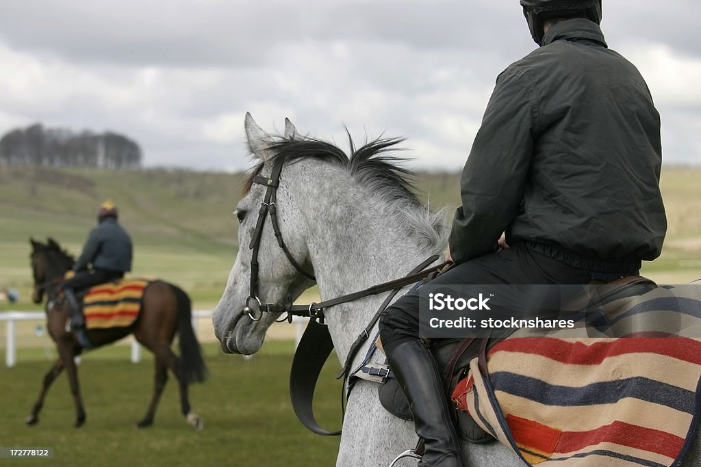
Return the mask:
M499 342L470 361L458 410L529 465L672 466L699 428L701 286L672 289L599 306L615 335L632 337L599 337L599 322L584 335ZM640 326L647 314L659 333Z

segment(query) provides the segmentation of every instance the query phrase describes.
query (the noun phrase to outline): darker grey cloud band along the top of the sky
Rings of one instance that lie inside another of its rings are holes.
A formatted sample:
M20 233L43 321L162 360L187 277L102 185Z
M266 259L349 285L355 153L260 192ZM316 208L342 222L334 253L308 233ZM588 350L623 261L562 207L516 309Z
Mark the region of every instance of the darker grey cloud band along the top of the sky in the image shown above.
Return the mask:
M698 55L701 4L604 2L604 30L623 40L667 43ZM611 29L606 29L612 25ZM69 62L135 66L250 67L275 47L304 41L395 43L418 50L480 50L514 58L533 48L516 0L299 2L144 0L134 3L10 0L0 38L18 50Z

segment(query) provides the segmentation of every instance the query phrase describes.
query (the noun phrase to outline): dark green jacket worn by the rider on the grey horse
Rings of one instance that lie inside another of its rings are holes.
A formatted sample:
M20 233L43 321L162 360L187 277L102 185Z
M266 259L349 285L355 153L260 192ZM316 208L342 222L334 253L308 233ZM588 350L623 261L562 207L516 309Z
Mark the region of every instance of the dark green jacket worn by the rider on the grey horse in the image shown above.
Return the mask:
M494 252L505 231L566 263L653 260L667 230L661 162L660 116L638 70L596 23L560 22L497 78L463 169L452 257Z

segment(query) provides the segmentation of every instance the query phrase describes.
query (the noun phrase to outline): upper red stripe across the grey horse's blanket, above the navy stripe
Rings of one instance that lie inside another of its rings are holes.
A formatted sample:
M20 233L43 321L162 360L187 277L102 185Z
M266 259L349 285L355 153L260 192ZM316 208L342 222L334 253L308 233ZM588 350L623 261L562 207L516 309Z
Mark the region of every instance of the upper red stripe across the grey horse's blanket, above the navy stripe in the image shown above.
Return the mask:
M499 342L488 354L498 351L536 354L576 365L598 365L605 358L624 354L653 353L701 365L701 342L686 337L626 337L591 345L552 337L515 337Z

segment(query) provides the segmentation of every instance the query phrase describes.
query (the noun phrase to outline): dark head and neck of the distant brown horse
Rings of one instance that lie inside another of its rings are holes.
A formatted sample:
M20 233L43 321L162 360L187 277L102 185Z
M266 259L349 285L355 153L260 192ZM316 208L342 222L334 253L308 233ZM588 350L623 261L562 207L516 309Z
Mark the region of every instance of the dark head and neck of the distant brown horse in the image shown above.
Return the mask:
M48 239L48 243L43 244L30 238L29 243L32 245L29 260L34 276L32 301L41 303L46 288L72 267L74 259L63 251L53 239Z

